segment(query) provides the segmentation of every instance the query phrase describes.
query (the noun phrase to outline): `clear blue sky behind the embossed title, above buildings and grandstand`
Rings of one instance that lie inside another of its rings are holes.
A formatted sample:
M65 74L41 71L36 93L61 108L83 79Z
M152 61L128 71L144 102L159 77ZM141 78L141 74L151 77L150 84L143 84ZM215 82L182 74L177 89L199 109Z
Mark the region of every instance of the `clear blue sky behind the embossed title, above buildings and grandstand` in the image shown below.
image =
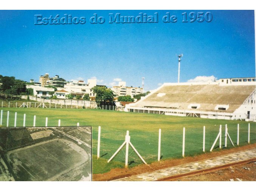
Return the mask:
M108 22L109 13L136 17L140 12L158 12L158 23ZM166 12L178 21L163 23ZM181 82L196 76L255 76L254 11L210 10L213 20L202 23L183 23L183 12L192 11L0 11L0 74L25 81L39 81L44 73L85 82L96 77L107 86L122 79L133 87L145 77L145 90L152 90L177 82L176 54L183 53ZM105 23L90 24L94 13ZM70 14L86 23L35 25L36 14Z

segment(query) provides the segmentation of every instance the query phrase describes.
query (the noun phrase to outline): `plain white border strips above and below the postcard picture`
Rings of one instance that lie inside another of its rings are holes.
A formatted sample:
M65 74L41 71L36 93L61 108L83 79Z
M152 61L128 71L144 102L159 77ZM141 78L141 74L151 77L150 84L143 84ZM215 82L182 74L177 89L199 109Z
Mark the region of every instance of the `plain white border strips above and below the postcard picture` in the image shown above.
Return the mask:
M35 3L36 2L36 3ZM122 3L123 2L123 3ZM182 1L138 1L138 0L8 0L0 3L0 9L77 9L77 10L118 10L118 9L256 9L256 4L252 0L243 1L223 1L212 0L182 0ZM0 26L1 27L1 26ZM256 182L0 182L0 189L3 191L72 191L74 189L84 190L99 190L99 191L130 191L132 189L143 189L145 191L167 191L167 190L223 190L230 189L243 190L245 188L255 188Z

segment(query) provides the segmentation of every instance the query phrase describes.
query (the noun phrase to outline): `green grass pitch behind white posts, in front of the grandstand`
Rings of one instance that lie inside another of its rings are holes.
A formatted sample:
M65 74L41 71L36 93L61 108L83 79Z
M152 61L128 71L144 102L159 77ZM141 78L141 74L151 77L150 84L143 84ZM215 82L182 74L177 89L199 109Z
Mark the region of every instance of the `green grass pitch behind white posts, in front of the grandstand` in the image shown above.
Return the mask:
M248 144L248 122L203 119L192 117L165 116L144 113L127 113L109 110L91 109L47 109L47 108L1 108L3 109L3 126L6 125L7 111L10 111L9 126L14 125L14 112L17 112L17 127L23 125L23 113L26 113L26 126L33 126L33 116L36 115L36 126L57 126L61 119L63 126L92 126L93 132L93 173L104 173L112 168L124 167L124 150L114 159L107 160L124 142L126 130L130 131L131 142L147 163L157 161L158 129L162 130L161 160L182 157L182 133L186 128L185 156L202 154L203 126L206 126L206 152L209 152L222 125L222 145L225 138L225 124L228 133L236 145L237 123L240 125L239 145ZM98 126L101 126L101 158L96 159ZM250 142L256 142L256 123L251 122ZM218 151L219 141L214 151ZM228 141L227 148L233 147ZM129 167L141 164L141 160L129 148Z

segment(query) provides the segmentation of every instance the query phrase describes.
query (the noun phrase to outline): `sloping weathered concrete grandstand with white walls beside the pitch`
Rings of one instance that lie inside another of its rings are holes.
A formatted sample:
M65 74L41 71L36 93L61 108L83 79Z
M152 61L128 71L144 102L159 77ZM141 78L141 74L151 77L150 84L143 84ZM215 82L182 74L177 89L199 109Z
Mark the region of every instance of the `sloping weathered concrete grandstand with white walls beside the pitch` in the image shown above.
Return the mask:
M225 78L205 83L164 83L126 112L256 121L256 79Z

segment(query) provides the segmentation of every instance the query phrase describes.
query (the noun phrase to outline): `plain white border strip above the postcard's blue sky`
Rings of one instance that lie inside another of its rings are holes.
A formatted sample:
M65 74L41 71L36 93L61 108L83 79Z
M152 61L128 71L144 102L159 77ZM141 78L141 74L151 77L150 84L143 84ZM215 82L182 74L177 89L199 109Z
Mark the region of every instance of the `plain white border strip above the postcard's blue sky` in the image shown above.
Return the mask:
M77 10L118 10L118 9L132 9L132 10L164 10L164 9L217 9L217 10L242 10L255 9L256 4L253 0L182 0L182 1L166 1L166 0L8 0L0 3L0 9L77 9Z

